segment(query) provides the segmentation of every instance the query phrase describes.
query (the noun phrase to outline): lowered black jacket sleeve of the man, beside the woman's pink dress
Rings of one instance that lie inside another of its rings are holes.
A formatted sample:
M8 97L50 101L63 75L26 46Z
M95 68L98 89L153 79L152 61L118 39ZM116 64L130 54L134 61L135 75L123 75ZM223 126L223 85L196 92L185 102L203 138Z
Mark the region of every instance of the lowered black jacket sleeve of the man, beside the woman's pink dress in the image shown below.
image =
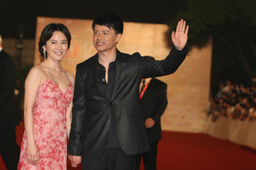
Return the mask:
M82 121L84 120L85 108L86 92L84 81L80 76L78 67L76 67L76 79L72 107L72 123L68 143L69 155L81 155Z

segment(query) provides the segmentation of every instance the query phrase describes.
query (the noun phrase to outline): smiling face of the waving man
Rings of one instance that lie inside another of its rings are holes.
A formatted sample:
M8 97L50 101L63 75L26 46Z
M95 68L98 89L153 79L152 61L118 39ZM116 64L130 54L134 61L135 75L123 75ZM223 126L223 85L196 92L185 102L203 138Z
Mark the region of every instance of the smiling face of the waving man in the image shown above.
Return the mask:
M93 30L93 44L98 52L110 52L115 50L121 36L121 33L115 35L114 29L96 24Z

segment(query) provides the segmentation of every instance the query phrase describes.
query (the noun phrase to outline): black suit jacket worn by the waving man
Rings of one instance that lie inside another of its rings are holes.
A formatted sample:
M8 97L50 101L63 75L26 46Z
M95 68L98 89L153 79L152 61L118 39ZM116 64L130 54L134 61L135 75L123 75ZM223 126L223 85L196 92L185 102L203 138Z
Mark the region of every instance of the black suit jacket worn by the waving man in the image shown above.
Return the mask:
M110 100L97 88L98 53L76 67L68 154L100 158L104 153L110 124L114 125L122 151L135 155L150 150L139 109L139 84L142 78L174 73L185 59L187 48L173 48L166 59L148 61L139 53L117 50L114 87Z

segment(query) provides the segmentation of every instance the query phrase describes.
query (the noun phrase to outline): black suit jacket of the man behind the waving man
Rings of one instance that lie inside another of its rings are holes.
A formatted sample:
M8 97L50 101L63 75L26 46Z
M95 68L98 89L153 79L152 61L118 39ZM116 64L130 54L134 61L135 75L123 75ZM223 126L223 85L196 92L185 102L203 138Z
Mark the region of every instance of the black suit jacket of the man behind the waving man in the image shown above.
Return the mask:
M150 117L155 121L154 126L146 128L147 137L150 141L157 141L162 137L160 117L168 104L166 91L166 83L152 78L141 100L139 100L143 120L146 121L146 119Z

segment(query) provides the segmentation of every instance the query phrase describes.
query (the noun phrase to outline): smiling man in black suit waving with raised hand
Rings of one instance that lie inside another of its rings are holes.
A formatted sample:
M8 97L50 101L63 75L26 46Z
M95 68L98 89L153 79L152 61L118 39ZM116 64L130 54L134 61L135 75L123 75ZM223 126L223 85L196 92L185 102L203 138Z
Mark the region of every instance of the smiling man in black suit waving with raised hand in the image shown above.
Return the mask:
M93 44L98 53L79 63L72 108L68 154L82 169L134 169L135 155L150 150L139 111L139 84L143 78L174 73L188 52L188 26L180 20L172 32L170 54L148 61L139 53L119 52L123 22L114 14L94 19Z

